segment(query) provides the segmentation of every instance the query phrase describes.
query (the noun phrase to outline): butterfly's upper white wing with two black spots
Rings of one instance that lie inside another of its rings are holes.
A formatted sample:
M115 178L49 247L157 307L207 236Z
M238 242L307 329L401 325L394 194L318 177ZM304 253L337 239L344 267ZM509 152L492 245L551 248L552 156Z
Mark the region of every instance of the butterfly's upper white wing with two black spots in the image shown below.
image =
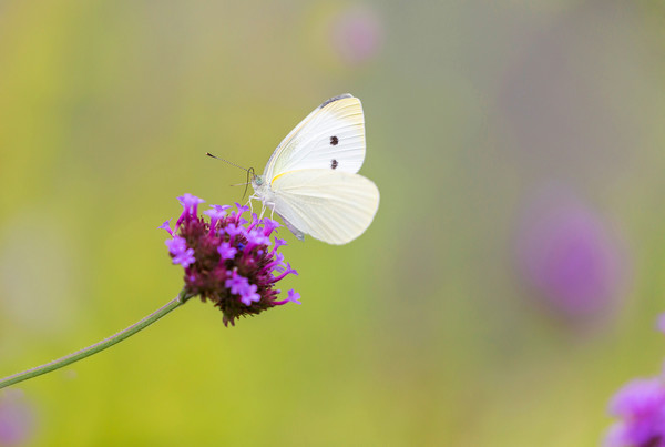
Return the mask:
M294 170L323 169L356 173L365 160L365 118L358 98L342 94L314 110L279 143L264 177Z

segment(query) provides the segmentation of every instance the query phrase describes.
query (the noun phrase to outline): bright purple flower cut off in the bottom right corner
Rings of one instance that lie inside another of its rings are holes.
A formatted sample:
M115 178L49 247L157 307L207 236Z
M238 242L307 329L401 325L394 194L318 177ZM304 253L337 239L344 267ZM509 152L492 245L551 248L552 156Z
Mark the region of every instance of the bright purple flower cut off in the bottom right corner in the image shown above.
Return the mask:
M635 379L610 403L610 414L623 420L605 436L605 447L665 447L665 383Z

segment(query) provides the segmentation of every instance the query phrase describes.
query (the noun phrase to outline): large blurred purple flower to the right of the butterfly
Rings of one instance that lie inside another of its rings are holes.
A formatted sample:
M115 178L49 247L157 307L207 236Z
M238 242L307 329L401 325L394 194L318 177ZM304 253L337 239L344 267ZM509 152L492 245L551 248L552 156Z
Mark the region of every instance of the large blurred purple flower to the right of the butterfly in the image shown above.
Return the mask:
M529 209L518 263L525 282L569 317L611 307L624 273L618 246L600 217L560 192L540 196Z

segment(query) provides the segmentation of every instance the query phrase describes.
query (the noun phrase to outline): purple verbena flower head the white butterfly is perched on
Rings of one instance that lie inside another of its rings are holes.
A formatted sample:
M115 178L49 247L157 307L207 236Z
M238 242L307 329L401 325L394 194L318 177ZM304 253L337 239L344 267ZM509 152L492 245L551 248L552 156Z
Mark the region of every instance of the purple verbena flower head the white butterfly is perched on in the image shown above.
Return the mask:
M278 301L275 284L289 274L298 273L284 255L277 253L283 240L273 232L280 225L270 219L252 215L252 222L243 217L249 209L236 203L212 205L198 215L198 205L204 201L191 194L177 197L183 213L171 228L166 240L173 264L184 271L186 298L198 295L202 301L212 301L224 314L224 324L232 325L239 316L255 315L267 308L286 303L299 303L299 294L293 289L286 299Z

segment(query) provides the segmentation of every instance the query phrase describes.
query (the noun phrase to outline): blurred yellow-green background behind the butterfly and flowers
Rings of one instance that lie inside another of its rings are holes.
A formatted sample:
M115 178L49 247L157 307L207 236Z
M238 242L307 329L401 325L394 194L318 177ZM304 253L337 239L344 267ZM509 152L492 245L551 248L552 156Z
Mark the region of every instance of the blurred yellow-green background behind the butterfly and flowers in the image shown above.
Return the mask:
M0 1L0 376L175 296L176 196L242 200L206 151L262 171L350 92L381 191L351 244L283 230L303 306L17 386L19 445L597 445L663 359L665 7L500 3Z

